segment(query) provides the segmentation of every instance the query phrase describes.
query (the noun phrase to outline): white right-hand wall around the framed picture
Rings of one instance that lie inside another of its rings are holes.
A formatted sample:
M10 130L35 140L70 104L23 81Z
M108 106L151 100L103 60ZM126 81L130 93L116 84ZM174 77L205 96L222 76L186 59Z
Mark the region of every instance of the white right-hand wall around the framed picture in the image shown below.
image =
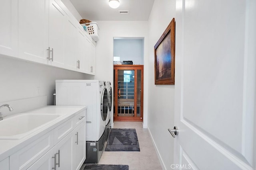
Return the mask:
M173 163L174 139L168 128L174 127L174 85L154 85L154 45L175 18L175 0L155 0L149 18L148 55L148 129L166 169Z

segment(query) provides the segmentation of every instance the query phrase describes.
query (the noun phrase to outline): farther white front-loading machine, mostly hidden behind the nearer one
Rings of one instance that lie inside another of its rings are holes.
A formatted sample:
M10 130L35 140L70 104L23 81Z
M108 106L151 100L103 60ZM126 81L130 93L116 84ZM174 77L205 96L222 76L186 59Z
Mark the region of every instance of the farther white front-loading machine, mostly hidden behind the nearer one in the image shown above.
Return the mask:
M108 90L108 115L106 118L106 141L108 140L108 136L111 131L111 123L110 123L110 117L113 116L111 113L112 111L112 88L111 88L111 83L107 82L106 88Z

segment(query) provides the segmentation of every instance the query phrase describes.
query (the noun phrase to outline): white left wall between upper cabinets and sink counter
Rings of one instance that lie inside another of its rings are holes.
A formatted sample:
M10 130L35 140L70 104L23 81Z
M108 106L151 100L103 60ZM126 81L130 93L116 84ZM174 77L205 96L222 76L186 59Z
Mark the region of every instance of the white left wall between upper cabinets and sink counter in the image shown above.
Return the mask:
M47 95L47 104L53 104L56 79L93 79L93 76L28 63L0 55L0 103Z

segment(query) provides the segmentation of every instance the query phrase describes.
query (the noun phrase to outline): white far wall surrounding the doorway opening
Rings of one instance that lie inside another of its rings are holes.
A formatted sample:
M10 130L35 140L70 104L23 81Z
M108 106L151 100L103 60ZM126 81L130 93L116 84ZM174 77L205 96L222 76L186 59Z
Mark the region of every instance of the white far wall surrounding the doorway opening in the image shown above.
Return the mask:
M100 40L96 45L95 79L110 81L113 87L113 42L114 37L144 37L144 127L148 114L148 21L96 21Z

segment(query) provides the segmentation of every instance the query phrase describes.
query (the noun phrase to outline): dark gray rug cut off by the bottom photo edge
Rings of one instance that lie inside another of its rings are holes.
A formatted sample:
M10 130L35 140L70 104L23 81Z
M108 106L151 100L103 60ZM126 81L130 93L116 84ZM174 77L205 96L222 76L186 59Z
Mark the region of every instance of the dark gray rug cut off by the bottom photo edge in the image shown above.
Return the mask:
M85 164L84 170L129 170L128 165Z

